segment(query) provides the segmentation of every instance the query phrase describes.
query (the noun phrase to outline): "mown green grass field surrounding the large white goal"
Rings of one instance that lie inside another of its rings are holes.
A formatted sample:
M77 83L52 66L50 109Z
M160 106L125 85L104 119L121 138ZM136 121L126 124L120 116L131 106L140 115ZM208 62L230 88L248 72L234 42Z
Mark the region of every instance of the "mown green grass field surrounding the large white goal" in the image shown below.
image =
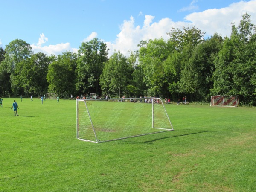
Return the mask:
M76 101L0 108L0 191L256 191L256 108L165 105L174 131L76 139Z

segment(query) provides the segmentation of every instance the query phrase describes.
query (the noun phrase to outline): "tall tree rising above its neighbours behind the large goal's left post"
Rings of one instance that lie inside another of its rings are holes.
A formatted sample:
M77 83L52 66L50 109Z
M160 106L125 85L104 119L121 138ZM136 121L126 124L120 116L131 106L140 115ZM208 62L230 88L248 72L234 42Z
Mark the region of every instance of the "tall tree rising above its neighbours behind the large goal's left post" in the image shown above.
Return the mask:
M78 50L76 90L79 93L96 93L101 95L99 78L103 63L108 61L108 48L105 43L94 38L83 42Z

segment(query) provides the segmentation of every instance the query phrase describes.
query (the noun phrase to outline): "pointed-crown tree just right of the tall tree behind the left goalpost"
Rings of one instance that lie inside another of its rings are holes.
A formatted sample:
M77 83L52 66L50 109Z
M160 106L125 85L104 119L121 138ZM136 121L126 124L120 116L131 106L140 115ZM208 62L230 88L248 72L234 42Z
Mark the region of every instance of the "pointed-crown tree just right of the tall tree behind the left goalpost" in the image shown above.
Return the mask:
M113 53L105 62L105 67L100 78L102 93L112 97L121 97L128 93L127 86L131 83L131 74L134 68L120 51Z

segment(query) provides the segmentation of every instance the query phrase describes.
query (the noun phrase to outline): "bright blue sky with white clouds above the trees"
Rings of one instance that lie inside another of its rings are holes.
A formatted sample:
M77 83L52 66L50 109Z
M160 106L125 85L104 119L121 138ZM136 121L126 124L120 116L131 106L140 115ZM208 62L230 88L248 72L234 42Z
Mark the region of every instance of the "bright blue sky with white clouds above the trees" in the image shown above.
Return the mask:
M256 0L0 0L0 47L21 39L36 52L77 52L98 38L128 56L141 40L167 40L172 27L230 37L242 15L256 24Z

